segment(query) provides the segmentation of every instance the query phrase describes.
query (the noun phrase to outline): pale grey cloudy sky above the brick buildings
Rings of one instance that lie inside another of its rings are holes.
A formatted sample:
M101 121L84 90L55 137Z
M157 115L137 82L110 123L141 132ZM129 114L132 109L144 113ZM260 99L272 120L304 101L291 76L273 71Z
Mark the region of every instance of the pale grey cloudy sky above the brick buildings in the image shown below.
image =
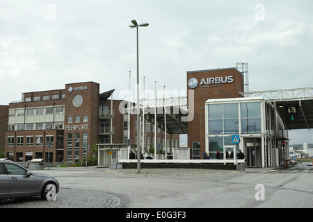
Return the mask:
M136 30L145 88L186 89L186 71L248 62L250 91L312 87L313 1L1 0L0 104L22 92L94 81L136 82ZM142 82L142 79L141 79ZM133 87L134 88L134 87ZM310 130L292 143L312 143Z

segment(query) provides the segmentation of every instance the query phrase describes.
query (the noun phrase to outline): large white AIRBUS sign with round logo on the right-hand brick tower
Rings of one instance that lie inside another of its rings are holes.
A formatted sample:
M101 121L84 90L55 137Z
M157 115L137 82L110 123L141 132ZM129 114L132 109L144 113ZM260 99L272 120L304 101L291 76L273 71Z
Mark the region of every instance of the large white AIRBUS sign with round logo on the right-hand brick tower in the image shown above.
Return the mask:
M199 87L213 87L213 86L220 86L225 83L233 83L234 76L220 76L220 77L209 77L209 78L202 78L200 80ZM188 80L188 87L194 89L198 86L198 80L196 78L190 78Z

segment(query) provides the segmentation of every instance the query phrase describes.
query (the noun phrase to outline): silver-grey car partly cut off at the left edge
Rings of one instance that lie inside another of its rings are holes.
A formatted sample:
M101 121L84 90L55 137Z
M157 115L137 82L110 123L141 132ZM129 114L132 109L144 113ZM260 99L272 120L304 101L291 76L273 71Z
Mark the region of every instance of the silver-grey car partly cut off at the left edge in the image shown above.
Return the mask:
M41 196L54 200L59 189L54 177L32 173L15 162L0 160L0 199Z

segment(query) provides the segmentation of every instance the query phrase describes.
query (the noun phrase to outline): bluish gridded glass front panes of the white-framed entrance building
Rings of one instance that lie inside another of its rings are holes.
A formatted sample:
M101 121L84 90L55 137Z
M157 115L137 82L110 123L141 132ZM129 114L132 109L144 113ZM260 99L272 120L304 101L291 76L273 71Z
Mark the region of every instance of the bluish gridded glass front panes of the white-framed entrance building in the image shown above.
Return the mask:
M209 156L216 159L216 151L224 158L224 146L232 146L231 135L262 133L262 101L211 103L207 105L207 139Z

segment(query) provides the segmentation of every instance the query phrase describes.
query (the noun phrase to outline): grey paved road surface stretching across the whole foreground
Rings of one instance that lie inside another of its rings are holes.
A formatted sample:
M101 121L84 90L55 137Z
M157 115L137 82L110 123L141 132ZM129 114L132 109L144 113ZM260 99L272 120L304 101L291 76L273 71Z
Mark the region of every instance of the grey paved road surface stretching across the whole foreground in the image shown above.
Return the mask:
M50 168L61 184L55 201L2 200L0 208L307 208L313 167L286 169Z

